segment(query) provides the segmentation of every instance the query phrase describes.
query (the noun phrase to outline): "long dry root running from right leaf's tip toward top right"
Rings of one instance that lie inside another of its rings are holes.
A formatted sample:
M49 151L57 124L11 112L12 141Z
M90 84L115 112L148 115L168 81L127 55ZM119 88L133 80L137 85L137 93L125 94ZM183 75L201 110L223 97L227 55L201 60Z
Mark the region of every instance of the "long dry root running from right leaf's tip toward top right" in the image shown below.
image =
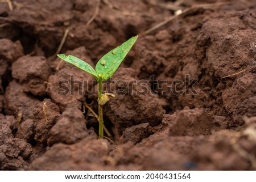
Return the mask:
M222 6L222 5L229 5L231 4L232 2L219 2L219 3L207 3L207 4L203 4L203 5L194 5L194 6L191 6L191 7L188 7L187 9L183 10L181 14L177 14L177 15L174 15L174 16L170 16L169 18L167 18L166 20L164 20L163 22L159 23L159 24L156 24L156 26L148 29L147 31L144 31L142 33L142 35L146 35L152 31L154 31L155 29L158 29L162 26L164 26L165 24L167 24L168 22L170 22L171 20L174 20L175 18L177 18L178 16L180 15L183 15L185 14L186 12L192 10L192 9L195 9L195 8L198 8L198 7L212 7L212 6Z

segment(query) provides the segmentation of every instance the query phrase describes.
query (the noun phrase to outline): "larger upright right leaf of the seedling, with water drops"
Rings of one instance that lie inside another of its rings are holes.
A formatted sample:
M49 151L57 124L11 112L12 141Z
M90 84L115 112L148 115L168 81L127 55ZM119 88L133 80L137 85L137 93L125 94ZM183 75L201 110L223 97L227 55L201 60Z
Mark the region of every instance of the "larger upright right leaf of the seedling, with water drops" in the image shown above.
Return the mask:
M122 45L110 50L96 64L96 72L102 80L108 80L118 69L123 59L134 45L138 36L132 37Z

